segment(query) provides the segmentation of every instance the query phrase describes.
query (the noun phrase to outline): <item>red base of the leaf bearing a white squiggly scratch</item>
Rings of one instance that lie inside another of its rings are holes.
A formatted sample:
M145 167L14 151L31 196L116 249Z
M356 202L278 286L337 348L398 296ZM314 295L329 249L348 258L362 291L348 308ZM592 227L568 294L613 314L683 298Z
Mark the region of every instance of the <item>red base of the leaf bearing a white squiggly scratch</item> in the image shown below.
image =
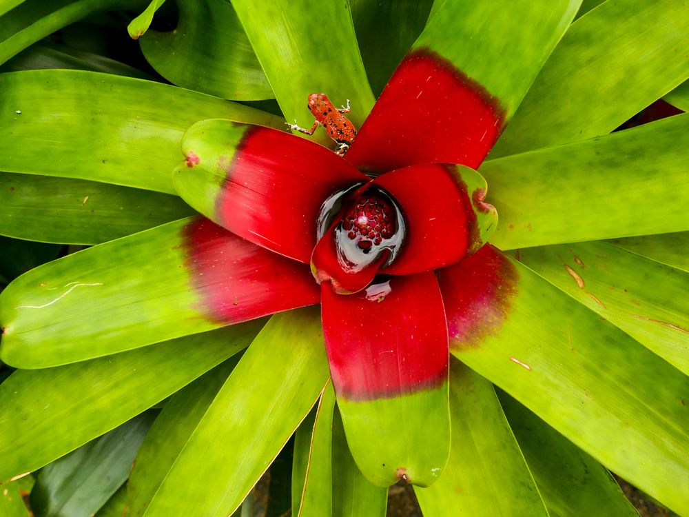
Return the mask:
M187 269L200 311L218 323L247 321L318 303L305 265L198 217L182 231Z

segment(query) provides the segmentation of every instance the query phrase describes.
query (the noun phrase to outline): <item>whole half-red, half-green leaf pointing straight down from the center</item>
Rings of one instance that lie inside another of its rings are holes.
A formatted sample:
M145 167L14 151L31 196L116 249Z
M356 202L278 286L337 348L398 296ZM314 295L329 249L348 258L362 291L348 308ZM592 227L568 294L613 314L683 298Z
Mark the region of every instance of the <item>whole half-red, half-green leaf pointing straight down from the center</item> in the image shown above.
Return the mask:
M427 486L450 447L442 299L433 272L383 287L340 295L322 285L333 387L364 476L380 486L400 479Z

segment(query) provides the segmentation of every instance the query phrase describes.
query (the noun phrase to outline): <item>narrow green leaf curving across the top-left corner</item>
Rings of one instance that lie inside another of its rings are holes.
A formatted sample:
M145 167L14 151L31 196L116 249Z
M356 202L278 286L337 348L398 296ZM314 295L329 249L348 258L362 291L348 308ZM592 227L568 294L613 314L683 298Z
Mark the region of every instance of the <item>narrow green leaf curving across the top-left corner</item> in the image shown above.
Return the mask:
M136 9L144 0L28 1L3 16L0 64L52 32L97 12ZM38 6L38 8L37 8Z

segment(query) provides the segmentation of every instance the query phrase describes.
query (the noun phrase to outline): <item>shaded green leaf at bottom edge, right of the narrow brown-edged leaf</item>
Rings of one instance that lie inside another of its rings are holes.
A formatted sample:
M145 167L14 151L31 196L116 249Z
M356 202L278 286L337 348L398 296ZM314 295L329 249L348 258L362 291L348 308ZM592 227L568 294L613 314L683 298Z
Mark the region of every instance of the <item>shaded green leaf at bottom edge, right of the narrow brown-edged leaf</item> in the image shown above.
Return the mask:
M354 463L342 417L333 416L333 517L383 517L388 490L373 485Z

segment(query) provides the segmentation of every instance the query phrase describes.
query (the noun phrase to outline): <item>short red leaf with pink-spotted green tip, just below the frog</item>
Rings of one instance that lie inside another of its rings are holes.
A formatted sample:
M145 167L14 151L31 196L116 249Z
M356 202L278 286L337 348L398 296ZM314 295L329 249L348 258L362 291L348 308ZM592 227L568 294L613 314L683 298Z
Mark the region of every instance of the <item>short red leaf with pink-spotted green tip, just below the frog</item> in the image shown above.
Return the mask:
M247 241L309 263L322 205L368 178L293 134L208 120L182 142L174 185L199 212Z

